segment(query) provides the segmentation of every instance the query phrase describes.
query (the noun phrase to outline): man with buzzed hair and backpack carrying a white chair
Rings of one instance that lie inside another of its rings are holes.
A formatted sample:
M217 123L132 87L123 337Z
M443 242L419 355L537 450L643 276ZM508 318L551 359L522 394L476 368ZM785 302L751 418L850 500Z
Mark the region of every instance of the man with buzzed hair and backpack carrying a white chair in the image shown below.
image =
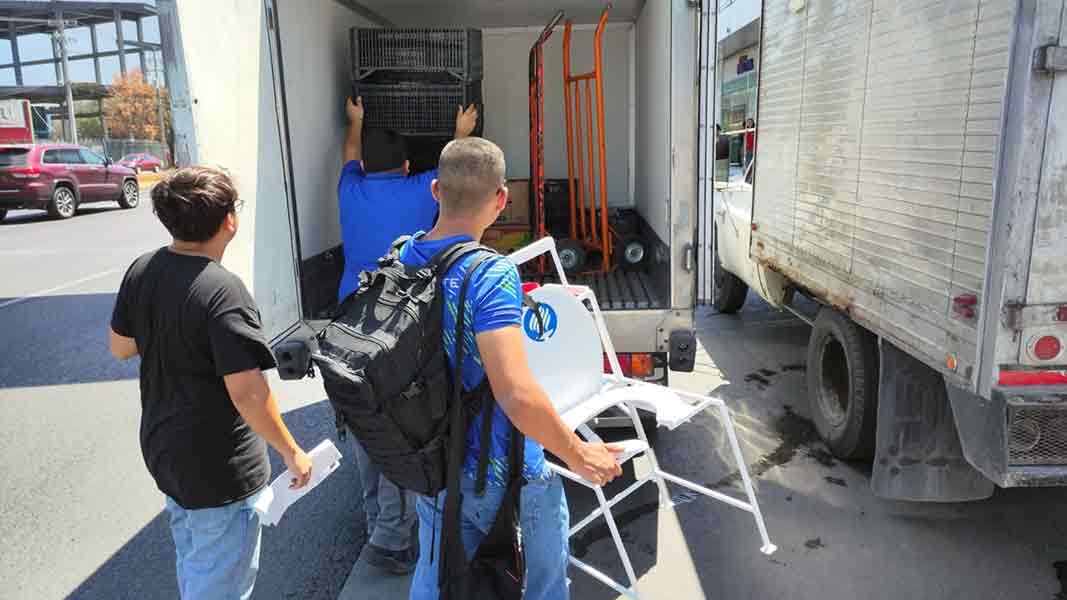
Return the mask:
M441 216L433 231L408 242L400 252L407 265L424 265L456 241L480 239L508 201L504 153L481 138L456 140L441 153L440 174L433 196ZM492 448L485 493L475 493L478 468L478 415L467 431L467 454L462 481L461 532L463 546L473 555L489 533L504 499L508 479L509 422L526 435L523 474L527 485L520 501L522 540L526 560L525 600L566 600L569 558L567 533L570 515L563 486L545 469L544 449L560 457L573 471L591 481L606 484L622 473L611 445L587 443L559 419L552 401L534 379L526 362L520 318L522 284L515 266L503 256L491 257L472 273L465 305L457 306L459 290L476 254L453 265L443 278L445 290L445 350L455 358L456 315L464 311L466 323L462 366L463 388L473 390L485 377L497 406L493 410ZM431 549L440 552L444 494L419 496L419 557L411 587L412 600L439 597L437 567ZM436 527L436 531L435 531ZM434 538L434 536L436 536Z

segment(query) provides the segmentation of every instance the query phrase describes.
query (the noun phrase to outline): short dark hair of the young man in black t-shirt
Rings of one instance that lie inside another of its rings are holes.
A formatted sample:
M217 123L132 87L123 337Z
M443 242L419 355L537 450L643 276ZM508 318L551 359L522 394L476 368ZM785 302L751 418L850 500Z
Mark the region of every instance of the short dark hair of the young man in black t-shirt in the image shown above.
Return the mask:
M152 188L152 207L174 239L207 241L237 211L237 188L218 169L186 167Z

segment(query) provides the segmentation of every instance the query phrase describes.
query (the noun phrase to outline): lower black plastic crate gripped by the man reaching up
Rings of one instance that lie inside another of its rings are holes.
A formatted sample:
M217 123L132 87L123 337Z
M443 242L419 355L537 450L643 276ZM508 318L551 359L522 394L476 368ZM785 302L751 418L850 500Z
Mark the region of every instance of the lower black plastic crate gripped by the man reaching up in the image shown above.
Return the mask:
M353 85L354 96L363 96L365 125L392 129L403 136L445 136L456 131L460 105L478 108L475 136L481 135L485 110L481 102L481 81L471 83L364 83Z

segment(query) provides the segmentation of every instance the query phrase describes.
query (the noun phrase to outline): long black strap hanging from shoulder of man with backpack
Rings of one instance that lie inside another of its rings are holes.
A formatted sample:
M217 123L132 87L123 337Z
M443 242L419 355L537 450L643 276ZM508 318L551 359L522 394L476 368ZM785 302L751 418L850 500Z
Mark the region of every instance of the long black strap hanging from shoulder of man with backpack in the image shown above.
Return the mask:
M434 269L441 268L442 264L446 267L450 267L459 259L460 256L465 255L469 252L476 251L479 246L474 242L463 242L466 244L474 244L474 248L468 248L465 252L459 255L452 255L456 251L453 244L452 247L446 249L437 256L434 257L433 265ZM442 256L442 254L446 256ZM460 493L460 474L463 470L463 458L466 454L466 410L463 407L463 338L465 332L465 317L466 317L466 295L467 288L471 284L471 277L474 272L489 259L490 254L481 254L477 256L471 264L466 273L463 277L463 283L460 285L459 300L457 302L458 310L456 311L456 364L452 367L452 402L451 402L451 415L449 423L449 433L448 433L448 493L445 496L445 507L444 507L444 519L442 521L442 533L441 533L441 551L442 558L441 564L437 565L437 583L444 588L445 581L448 573L458 572L458 567L461 567L466 563L466 550L463 548L463 540L460 537L460 509L462 507L463 496ZM439 271L440 272L440 271ZM457 568L453 568L452 565Z

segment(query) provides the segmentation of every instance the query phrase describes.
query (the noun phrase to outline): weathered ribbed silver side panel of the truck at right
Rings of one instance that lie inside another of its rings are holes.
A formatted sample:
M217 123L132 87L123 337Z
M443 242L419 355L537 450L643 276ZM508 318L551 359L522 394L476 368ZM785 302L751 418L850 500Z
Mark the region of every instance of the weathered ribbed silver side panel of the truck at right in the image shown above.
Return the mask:
M765 2L753 257L969 380L1016 2Z

